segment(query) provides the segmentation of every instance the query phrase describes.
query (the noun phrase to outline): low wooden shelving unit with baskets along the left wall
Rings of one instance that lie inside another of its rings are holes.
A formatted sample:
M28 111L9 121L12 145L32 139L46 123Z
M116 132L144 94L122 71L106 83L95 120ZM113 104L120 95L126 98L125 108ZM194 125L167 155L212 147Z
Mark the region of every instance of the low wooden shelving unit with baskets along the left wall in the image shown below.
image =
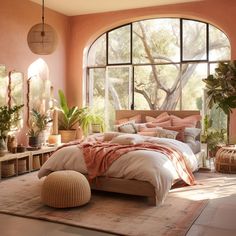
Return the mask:
M7 153L0 157L0 180L39 170L57 147L43 147L36 151Z

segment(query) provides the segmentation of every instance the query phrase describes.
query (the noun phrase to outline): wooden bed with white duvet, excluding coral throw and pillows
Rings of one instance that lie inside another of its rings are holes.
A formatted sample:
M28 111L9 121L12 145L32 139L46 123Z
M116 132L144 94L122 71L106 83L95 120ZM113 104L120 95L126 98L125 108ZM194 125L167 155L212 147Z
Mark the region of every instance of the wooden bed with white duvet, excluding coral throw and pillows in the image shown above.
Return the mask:
M141 122L146 116L156 117L164 111L140 111L140 110L119 110L116 111L116 119L129 119L140 115ZM170 115L185 118L192 115L199 115L199 111L167 111ZM198 122L197 127L200 127ZM137 134L140 136L139 134ZM141 135L142 136L142 135ZM103 134L95 135L100 139ZM177 148L180 152L188 156L188 167L191 172L199 168L199 159L204 155L203 151L194 154L184 143L167 138L151 138L142 136L158 145L169 145ZM156 156L159 156L156 158ZM148 157L148 158L147 158ZM158 164L156 163L158 159ZM143 168L145 161L145 168ZM136 163L137 162L137 163ZM81 164L82 163L82 164ZM127 164L128 163L128 164ZM172 163L173 164L173 163ZM98 176L96 181L90 181L92 189L117 192L131 195L145 196L151 205L159 205L166 198L171 186L177 182L179 174L173 168L171 162L165 154L150 150L134 150L122 155L111 164L104 176ZM132 168L135 168L133 170ZM142 169L143 168L143 169ZM86 164L83 161L83 152L78 145L71 145L56 151L51 158L41 167L38 176L42 178L57 170L73 169L87 176ZM153 174L157 175L153 177ZM157 173L157 174L156 174Z

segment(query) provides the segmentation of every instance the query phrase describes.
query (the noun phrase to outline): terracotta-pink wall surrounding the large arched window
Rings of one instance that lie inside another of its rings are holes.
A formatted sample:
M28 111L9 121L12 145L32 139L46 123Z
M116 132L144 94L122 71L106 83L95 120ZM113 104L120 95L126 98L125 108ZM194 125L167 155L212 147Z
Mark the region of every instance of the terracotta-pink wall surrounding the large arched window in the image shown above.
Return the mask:
M68 48L68 100L81 105L87 47L102 33L115 26L137 19L152 17L186 17L209 22L222 29L232 46L232 59L236 59L236 2L234 0L205 0L192 3L165 5L135 10L88 14L70 18L70 47ZM236 112L231 117L231 137L236 140Z

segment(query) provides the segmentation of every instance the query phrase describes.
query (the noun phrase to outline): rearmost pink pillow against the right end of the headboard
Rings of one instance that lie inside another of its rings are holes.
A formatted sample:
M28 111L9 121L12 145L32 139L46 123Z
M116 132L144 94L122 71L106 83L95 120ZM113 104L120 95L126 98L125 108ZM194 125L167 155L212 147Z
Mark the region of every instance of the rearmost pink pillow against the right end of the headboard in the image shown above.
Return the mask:
M192 115L185 118L179 118L171 115L172 126L196 127L197 122L201 120L201 115Z

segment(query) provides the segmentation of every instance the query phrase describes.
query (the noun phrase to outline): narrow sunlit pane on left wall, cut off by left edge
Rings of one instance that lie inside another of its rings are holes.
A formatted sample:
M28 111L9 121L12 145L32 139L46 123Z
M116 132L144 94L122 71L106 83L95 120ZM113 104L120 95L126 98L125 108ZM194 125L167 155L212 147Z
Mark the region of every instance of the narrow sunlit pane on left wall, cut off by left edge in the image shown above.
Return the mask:
M7 86L7 70L4 65L0 65L0 106L5 106L8 103Z

